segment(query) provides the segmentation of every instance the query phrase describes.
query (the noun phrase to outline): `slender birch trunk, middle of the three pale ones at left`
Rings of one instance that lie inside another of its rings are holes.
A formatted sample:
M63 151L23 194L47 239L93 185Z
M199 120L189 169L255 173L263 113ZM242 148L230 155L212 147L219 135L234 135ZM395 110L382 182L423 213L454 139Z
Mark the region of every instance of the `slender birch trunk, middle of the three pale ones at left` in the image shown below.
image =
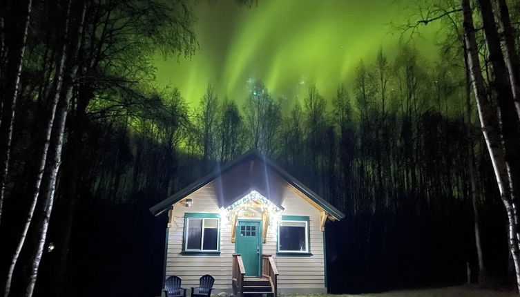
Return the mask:
M67 32L68 32L68 15L70 12L70 5L67 8L66 12L66 19L65 19L65 27L64 27L64 40L67 38ZM55 119L55 113L57 108L57 103L59 99L59 94L61 93L61 85L63 83L63 73L65 68L65 60L66 60L66 42L63 41L63 45L61 46L61 57L59 59L59 64L57 66L57 71L55 75L55 82L54 82L54 93L52 94L50 98L50 102L48 103L48 108L46 108L45 117L44 119L46 122L41 125L41 131L37 133L37 140L35 141L37 144L41 144L41 147L37 150L37 164L35 164L36 171L34 173L34 176L32 176L32 180L30 183L31 189L30 194L28 197L28 200L30 201L30 207L28 209L28 213L26 216L26 221L23 224L23 228L21 230L21 233L19 234L17 247L15 248L15 251L13 252L10 260L10 265L8 269L8 274L6 276L6 283L5 287L3 288L3 296L8 297L11 289L12 284L12 276L15 272L15 267L17 265L18 258L21 253L21 249L23 248L23 245L26 242L27 233L32 221L32 217L35 213L35 208L39 196L39 190L40 190L40 184L41 180L44 174L46 159L47 159L47 153L48 148L50 144L50 134L52 131L52 125L54 124Z

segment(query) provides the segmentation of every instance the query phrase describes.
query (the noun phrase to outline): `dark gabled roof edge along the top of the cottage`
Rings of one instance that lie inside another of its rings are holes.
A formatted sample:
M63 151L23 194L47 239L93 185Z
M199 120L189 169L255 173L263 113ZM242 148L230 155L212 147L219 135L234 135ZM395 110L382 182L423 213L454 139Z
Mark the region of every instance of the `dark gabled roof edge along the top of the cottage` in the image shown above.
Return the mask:
M337 220L340 220L345 217L345 215L343 213L341 213L341 211L336 209L336 207L332 206L325 199L321 198L320 195L314 193L314 191L311 191L311 189L307 188L307 186L302 184L300 181L296 180L296 178L293 178L293 176L291 176L285 170L281 169L280 166L274 164L274 162L269 160L264 155L261 155L257 151L249 151L247 153L244 153L244 155L241 155L240 157L236 158L235 160L225 164L222 167L219 167L218 169L215 169L215 171L213 171L212 173L209 173L208 175L193 182L189 186L186 186L184 189L178 191L177 193L175 193L175 194L169 196L168 198L162 200L161 202L155 204L153 207L150 208L150 211L151 211L151 213L153 213L153 215L160 215L164 211L168 210L172 204L179 202L186 196L188 196L191 193L202 188L202 186L205 186L206 184L209 184L210 182L213 182L214 180L220 178L225 173L228 173L229 171L231 171L231 169L235 169L238 166L243 165L245 162L255 161L255 160L259 160L260 162L263 162L266 169L270 169L271 171L276 173L280 178L282 178L282 180L285 180L285 182L287 182L288 184L291 184L291 186L293 186L298 191L303 193L314 203L318 204L319 207L321 207L322 209L327 211L327 213L329 213L332 217L336 218ZM269 183L268 178L265 182ZM269 184L267 184L267 186L265 188L266 189L257 189L257 187L254 187L253 189L260 192L266 198L270 198L269 193L262 193L262 192L269 192Z

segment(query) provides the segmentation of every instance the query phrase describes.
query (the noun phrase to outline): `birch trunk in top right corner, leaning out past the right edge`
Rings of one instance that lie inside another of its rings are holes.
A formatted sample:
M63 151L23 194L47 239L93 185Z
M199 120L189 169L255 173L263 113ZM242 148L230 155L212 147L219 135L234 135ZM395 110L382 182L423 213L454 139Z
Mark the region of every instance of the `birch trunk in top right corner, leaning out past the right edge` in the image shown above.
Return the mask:
M514 42L508 4L505 3L505 0L495 0L495 3L497 3L497 8L499 9L498 19L502 29L503 43L505 45L505 64L509 70L514 105L520 117L520 58L517 54L517 46Z

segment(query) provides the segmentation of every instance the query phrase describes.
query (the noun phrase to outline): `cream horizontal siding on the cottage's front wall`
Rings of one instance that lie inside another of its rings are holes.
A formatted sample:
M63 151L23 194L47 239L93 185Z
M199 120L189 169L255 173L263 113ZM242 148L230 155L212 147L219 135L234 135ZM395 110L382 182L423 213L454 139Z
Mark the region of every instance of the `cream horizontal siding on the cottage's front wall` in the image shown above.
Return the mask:
M290 187L290 186L288 186ZM215 278L215 293L231 292L231 264L235 243L231 242L231 226L222 220L220 229L220 256L184 256L182 236L184 213L219 213L215 186L210 183L187 198L193 199L192 207L177 202L173 207L173 224L169 229L166 254L166 277L175 275L182 278L182 287L197 287L200 276L210 274ZM276 226L269 226L267 242L262 245L262 253L270 253L278 267L278 291L280 293L326 292L323 259L322 231L320 231L320 212L294 191L286 191L282 199L283 215L305 215L310 218L310 257L276 257ZM261 220L256 217L239 219Z

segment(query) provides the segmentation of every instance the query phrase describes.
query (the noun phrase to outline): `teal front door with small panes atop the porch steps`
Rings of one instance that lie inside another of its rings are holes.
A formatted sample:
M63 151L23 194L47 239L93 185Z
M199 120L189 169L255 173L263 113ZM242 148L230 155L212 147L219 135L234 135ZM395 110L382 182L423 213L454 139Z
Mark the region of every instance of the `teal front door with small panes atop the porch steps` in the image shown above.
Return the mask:
M246 276L260 276L262 230L260 220L238 220L235 251L242 255Z

